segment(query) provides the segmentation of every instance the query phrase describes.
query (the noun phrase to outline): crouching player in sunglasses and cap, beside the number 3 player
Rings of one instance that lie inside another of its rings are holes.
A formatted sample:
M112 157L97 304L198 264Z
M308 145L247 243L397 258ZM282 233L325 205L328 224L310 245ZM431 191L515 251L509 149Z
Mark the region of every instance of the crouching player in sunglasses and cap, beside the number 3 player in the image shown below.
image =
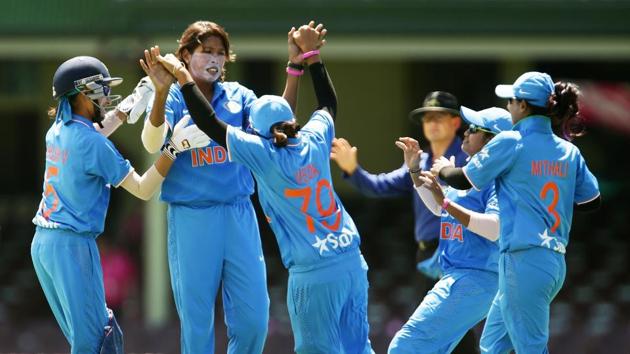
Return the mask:
M501 108L474 111L461 107L469 123L462 151L474 156L501 131L512 127ZM443 189L436 177L419 167L418 141L400 138L416 192L428 210L441 216L437 253L442 277L396 333L388 353L450 353L466 332L483 320L498 285L498 205L494 185L481 191ZM454 165L442 157L439 163Z

